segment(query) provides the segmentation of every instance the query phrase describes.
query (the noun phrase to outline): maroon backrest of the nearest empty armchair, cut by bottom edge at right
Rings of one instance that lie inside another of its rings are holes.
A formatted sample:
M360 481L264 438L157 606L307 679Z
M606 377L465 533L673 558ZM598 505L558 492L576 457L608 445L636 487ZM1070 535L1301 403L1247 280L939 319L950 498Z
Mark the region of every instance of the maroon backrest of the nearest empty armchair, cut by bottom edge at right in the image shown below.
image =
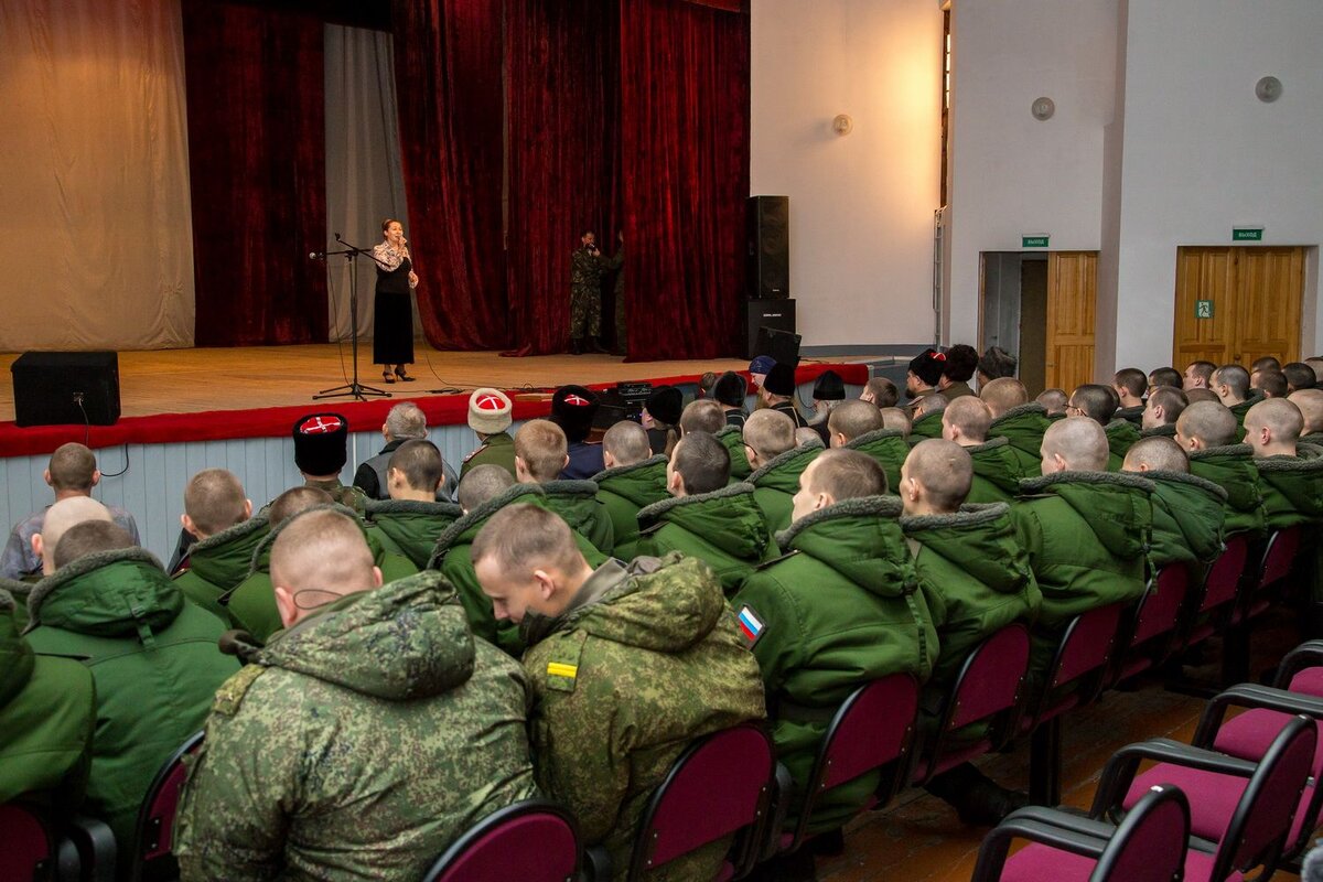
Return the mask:
M1117 826L1089 882L1171 882L1184 869L1188 844L1185 795L1154 787Z

